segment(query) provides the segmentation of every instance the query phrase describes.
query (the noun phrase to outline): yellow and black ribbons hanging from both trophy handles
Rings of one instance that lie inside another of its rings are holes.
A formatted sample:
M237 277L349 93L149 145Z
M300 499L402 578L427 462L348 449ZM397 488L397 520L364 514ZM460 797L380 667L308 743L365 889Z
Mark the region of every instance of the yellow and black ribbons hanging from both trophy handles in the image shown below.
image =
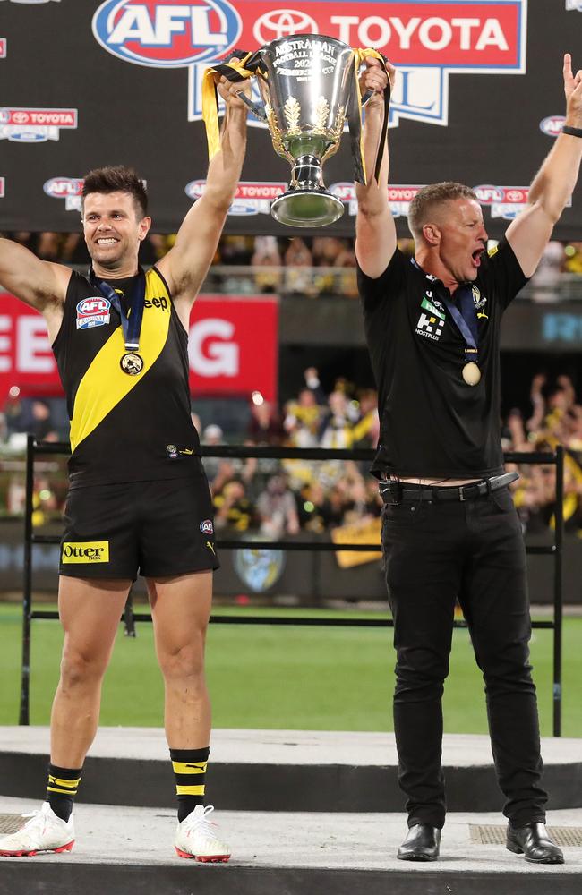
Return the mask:
M354 163L354 180L357 183L367 183L364 146L362 143L362 96L360 94L360 86L358 83L358 72L360 65L364 62L366 56L372 56L379 59L384 71L386 71L386 56L370 47L366 49L354 49L354 87L350 90L348 107L347 107L347 127L350 134L350 147L352 151L352 160ZM248 53L244 50L234 50L228 63L220 63L211 68L207 68L202 77L202 118L206 125L206 138L208 141L209 158L212 159L220 149L220 134L218 129L218 92L215 74L224 75L228 81L239 83L252 78L257 74L263 78L267 77L266 68L261 60L261 50L254 53ZM382 124L380 146L374 166L374 177L378 181L380 168L384 153L384 144L386 142L386 133L388 131L388 115L390 102L390 80L388 86L384 90L384 121ZM253 104L252 104L253 105ZM261 115L258 107L256 107L259 117Z

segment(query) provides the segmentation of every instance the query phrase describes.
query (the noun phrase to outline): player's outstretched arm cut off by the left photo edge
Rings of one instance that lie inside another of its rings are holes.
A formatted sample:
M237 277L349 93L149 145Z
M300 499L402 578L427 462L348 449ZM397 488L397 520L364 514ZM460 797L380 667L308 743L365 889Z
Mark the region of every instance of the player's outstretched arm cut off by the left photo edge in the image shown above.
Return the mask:
M10 239L0 239L0 286L43 315L51 340L63 319L70 268L41 261L33 252Z

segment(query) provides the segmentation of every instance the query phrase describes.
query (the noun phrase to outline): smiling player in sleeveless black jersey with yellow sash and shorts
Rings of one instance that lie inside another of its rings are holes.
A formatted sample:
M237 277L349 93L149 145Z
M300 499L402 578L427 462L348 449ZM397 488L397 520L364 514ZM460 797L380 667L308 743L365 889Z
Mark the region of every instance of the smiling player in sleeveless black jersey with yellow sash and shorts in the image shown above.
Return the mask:
M205 776L210 701L204 644L212 600L212 501L188 387L190 311L206 276L243 166L247 110L218 78L227 115L206 189L175 245L143 272L151 226L147 193L124 166L85 178L82 226L88 276L0 239L0 283L39 311L71 416L58 604L61 676L51 715L47 796L0 855L73 848L73 800L95 737L101 684L138 570L150 597L165 685L180 857L224 862L230 848L210 822ZM138 765L136 765L137 767Z

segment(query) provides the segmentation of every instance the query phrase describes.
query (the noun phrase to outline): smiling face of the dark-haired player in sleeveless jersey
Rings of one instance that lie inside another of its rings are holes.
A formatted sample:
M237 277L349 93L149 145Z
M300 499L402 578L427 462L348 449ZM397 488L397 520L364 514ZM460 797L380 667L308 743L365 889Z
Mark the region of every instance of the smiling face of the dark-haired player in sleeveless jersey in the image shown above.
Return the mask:
M140 217L129 192L90 192L83 201L83 234L95 272L127 276L137 269L150 217Z

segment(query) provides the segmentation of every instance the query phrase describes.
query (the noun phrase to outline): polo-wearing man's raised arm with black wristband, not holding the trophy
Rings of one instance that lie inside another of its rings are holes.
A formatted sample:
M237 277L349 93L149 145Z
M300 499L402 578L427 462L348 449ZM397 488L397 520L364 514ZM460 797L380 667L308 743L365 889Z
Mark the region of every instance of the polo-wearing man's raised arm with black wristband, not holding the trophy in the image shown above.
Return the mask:
M582 70L572 73L572 59L564 55L566 122L582 129ZM561 133L535 175L527 208L509 225L507 238L526 277L531 277L552 235L554 224L574 191L582 159L582 136Z

